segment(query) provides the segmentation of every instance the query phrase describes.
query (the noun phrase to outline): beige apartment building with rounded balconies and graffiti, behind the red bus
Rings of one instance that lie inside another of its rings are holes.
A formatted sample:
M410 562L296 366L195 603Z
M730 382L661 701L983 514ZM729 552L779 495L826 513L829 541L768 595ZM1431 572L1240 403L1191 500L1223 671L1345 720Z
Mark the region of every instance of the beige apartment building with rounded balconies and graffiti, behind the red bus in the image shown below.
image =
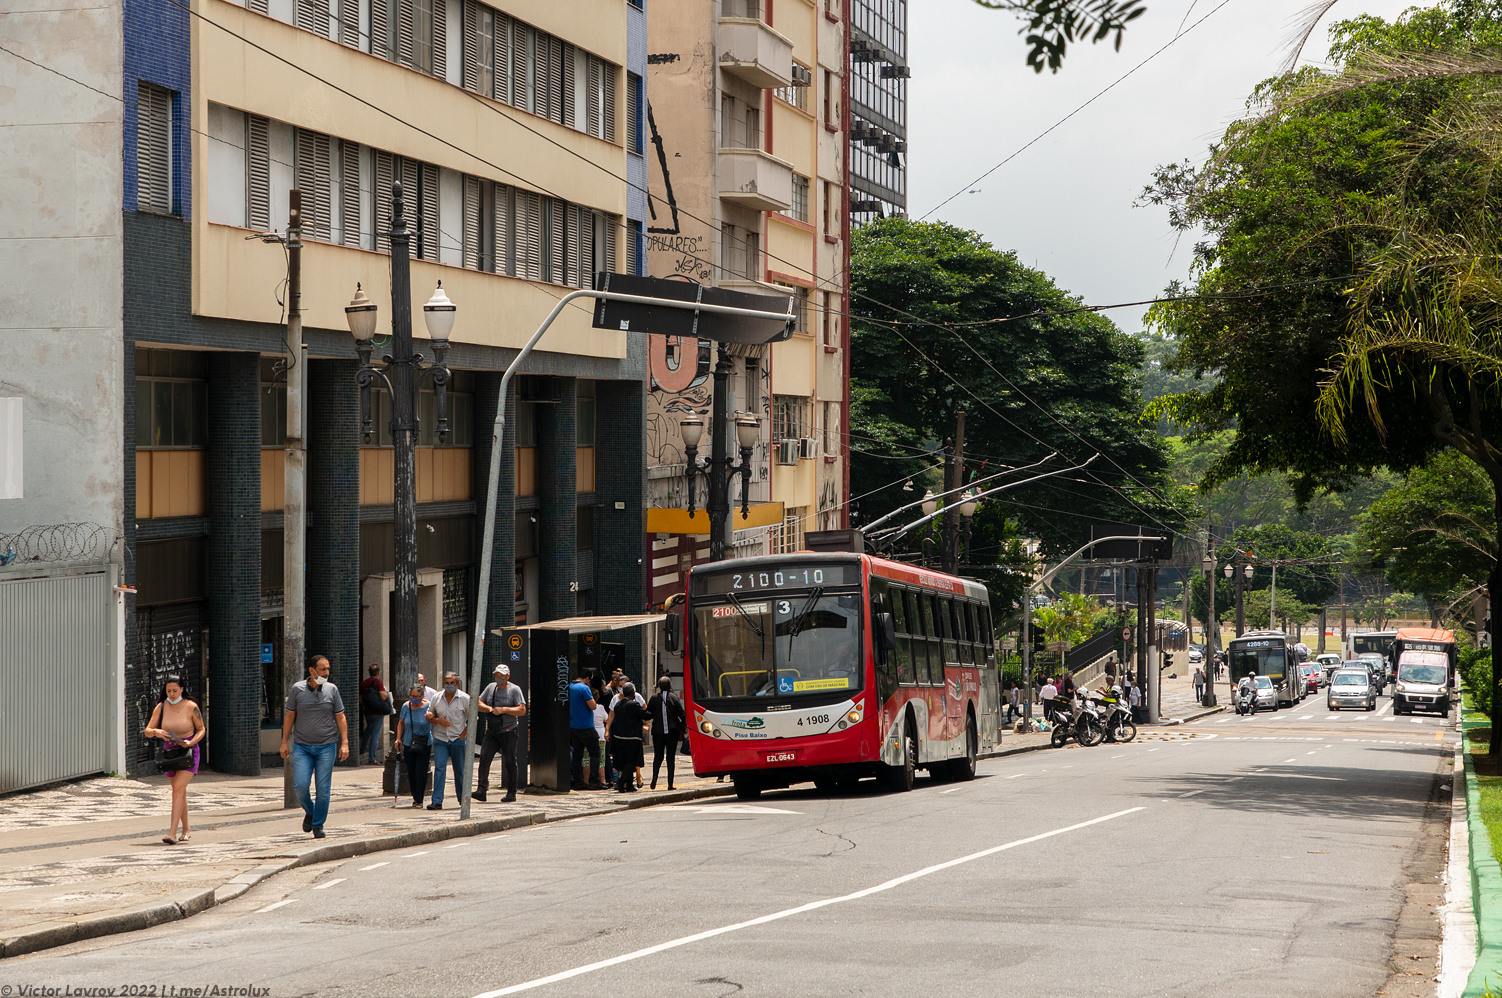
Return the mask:
M846 525L849 497L846 5L653 0L647 47L647 274L802 302L792 338L728 349L727 400L762 421L751 502L783 510L754 511L727 556L799 550L808 531ZM680 520L652 508L686 505L679 421L710 409L719 356L709 341L652 340L647 582L661 603L709 556L707 537L673 532Z

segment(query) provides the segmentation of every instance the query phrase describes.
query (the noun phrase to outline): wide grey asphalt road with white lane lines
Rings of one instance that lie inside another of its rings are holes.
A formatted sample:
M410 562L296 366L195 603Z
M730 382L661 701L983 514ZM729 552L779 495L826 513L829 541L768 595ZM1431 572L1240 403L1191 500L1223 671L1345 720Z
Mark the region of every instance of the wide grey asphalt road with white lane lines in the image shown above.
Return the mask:
M1370 996L1452 738L1388 697L1311 697L906 795L804 786L362 857L0 963L0 998Z

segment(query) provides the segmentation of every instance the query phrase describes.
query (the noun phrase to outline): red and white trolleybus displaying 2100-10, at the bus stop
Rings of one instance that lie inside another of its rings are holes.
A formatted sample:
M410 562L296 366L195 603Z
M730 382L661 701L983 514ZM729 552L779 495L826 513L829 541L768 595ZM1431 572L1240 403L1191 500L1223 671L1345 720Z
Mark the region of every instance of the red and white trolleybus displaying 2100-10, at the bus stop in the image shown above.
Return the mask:
M856 553L700 565L688 579L685 682L698 776L740 798L916 770L975 776L1000 694L985 586Z

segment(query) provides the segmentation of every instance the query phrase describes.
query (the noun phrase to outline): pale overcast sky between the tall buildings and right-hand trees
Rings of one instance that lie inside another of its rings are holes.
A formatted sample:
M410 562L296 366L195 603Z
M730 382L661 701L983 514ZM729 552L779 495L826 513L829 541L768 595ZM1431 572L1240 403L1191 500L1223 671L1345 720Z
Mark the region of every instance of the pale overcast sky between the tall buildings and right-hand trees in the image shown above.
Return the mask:
M907 209L975 228L1048 274L1086 304L1158 296L1188 275L1193 242L1178 242L1161 207L1133 207L1155 165L1190 158L1242 114L1251 89L1277 72L1310 0L1148 0L1120 51L1071 47L1057 74L1024 63L1021 21L972 0L910 0ZM1323 63L1334 20L1394 20L1412 0L1341 0L1316 29L1304 62ZM1217 9L1218 8L1218 9ZM1188 15L1185 18L1185 15ZM1191 27L1209 15L1203 24ZM1134 66L1176 42L984 180L972 182ZM1123 331L1142 308L1105 313Z

